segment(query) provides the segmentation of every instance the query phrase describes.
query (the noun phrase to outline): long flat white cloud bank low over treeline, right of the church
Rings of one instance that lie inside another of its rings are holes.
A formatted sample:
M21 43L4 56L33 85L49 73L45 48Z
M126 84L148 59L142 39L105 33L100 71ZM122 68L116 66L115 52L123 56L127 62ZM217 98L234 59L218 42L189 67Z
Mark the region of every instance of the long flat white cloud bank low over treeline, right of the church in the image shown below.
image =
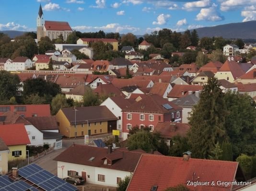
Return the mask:
M99 30L103 30L104 32L137 32L140 29L136 27L132 27L129 25L120 25L118 23L110 23L102 27L92 27L92 26L75 26L72 29L76 31L94 31L97 32Z

